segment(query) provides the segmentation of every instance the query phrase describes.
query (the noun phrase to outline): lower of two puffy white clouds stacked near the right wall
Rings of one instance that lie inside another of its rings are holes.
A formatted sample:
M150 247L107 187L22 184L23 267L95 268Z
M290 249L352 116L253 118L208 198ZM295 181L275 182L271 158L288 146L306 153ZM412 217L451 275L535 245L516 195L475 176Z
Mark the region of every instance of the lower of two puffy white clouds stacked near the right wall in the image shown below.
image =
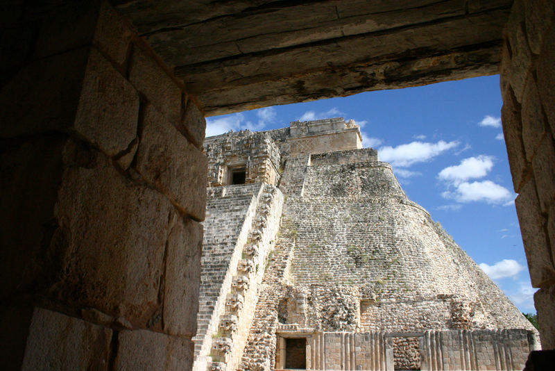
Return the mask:
M445 191L441 195L457 202L485 201L488 204L499 204L513 197L509 190L493 181L462 182L455 188L454 192Z

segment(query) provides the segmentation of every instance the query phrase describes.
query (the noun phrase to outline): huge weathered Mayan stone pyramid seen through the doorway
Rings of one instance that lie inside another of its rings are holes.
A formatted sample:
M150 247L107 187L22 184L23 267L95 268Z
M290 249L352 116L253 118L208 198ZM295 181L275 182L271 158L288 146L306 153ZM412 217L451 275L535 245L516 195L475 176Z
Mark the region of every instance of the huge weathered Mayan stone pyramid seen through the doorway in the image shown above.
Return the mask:
M522 370L539 349L352 120L204 148L195 371Z

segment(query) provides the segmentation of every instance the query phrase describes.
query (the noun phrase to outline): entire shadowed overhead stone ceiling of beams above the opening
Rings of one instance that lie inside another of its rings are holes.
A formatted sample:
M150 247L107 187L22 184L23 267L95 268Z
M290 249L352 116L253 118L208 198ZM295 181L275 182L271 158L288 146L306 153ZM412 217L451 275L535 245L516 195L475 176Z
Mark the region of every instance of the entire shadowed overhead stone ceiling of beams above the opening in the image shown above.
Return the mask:
M510 0L123 1L207 115L497 73Z

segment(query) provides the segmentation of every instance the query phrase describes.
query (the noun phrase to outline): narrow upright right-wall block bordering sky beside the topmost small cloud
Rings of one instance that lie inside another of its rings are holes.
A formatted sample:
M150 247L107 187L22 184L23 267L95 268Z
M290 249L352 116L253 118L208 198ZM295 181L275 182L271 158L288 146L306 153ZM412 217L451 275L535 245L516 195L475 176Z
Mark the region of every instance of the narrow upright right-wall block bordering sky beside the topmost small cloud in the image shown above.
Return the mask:
M526 157L524 156L524 145L522 144L522 124L520 122L520 104L516 101L513 90L509 87L503 94L503 106L501 118L503 122L503 134L509 165L511 165L511 176L513 176L513 187L515 192L520 191L520 183L526 168Z

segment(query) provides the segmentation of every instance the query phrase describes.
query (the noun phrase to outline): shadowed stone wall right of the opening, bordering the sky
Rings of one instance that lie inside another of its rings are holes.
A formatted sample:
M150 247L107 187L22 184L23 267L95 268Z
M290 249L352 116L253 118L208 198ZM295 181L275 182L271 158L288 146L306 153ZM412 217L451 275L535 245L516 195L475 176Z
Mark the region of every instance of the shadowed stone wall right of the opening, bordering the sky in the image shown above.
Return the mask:
M515 0L503 45L502 121L543 349L555 349L555 5Z

